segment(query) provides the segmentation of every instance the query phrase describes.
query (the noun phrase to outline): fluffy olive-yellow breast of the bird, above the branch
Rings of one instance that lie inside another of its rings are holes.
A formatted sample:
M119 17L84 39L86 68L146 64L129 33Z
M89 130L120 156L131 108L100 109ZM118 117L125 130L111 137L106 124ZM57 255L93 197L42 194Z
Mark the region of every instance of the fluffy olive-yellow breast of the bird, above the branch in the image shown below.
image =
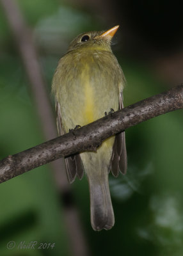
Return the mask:
M63 70L65 79L60 84L60 104L66 131L101 118L111 108L116 111L119 102L114 65L100 60L99 54L76 58Z

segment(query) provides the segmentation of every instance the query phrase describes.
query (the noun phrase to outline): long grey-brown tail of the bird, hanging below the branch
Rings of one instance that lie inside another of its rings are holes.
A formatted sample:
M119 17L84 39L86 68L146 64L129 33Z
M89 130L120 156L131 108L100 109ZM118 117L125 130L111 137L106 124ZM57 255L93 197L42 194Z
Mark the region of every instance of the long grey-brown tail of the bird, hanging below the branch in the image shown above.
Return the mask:
M108 230L115 224L113 205L109 191L108 173L90 173L90 214L92 227L96 231Z

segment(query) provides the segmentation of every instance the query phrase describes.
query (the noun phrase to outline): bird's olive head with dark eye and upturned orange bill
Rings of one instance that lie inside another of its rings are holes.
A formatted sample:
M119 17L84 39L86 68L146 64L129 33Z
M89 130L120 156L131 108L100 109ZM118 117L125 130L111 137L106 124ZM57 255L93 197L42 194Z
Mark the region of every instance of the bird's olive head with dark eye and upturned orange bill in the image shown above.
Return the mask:
M111 40L118 30L115 26L107 31L89 31L78 35L68 47L68 52L74 50L100 50L111 51Z

